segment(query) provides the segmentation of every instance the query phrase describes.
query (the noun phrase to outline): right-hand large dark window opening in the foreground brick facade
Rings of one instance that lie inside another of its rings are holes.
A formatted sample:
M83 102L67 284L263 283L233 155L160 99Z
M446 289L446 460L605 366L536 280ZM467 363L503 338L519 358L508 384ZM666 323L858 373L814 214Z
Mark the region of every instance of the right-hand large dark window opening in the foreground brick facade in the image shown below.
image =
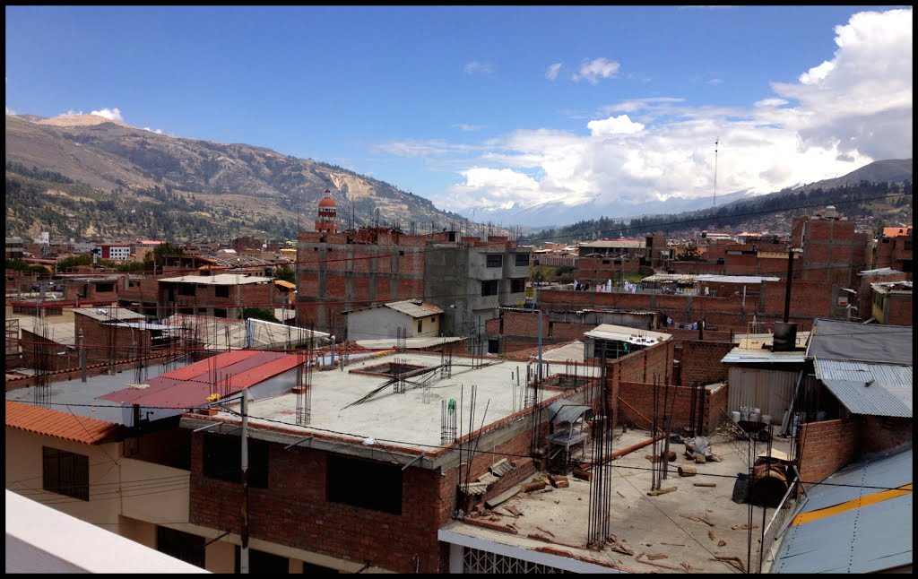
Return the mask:
M337 454L329 454L327 461L327 492L330 503L401 515L400 466ZM367 481L373 481L372 488L367 488Z

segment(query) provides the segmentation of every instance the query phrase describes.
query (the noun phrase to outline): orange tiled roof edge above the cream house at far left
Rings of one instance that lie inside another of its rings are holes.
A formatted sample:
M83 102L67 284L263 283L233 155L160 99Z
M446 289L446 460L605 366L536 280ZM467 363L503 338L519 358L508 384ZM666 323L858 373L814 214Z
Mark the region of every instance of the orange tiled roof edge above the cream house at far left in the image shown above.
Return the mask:
M7 400L6 426L62 440L98 444L116 434L120 425Z

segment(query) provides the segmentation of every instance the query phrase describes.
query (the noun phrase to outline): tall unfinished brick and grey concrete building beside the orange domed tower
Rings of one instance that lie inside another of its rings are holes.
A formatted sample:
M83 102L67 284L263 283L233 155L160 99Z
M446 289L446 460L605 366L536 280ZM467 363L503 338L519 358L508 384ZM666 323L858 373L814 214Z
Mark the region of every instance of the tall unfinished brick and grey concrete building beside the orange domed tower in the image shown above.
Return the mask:
M506 237L407 235L376 227L339 233L331 209L319 206L319 230L298 236L300 327L342 337L346 310L421 299L449 312L445 335L482 336L485 320L497 316L500 306L524 301L530 249Z

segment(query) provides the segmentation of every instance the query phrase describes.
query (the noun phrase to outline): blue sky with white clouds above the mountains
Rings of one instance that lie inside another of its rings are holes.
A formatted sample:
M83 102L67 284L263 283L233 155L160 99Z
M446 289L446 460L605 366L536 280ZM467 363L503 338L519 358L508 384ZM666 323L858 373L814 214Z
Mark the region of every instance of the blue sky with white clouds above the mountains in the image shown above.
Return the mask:
M6 112L616 217L911 158L912 7L6 6Z

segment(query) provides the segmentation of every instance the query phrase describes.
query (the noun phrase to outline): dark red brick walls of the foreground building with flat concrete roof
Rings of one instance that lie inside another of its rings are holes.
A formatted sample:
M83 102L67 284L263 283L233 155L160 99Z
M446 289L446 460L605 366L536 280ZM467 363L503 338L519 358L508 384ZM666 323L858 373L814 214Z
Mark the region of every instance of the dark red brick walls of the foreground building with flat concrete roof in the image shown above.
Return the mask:
M543 404L547 406L551 398L546 393ZM249 489L250 536L350 561L370 562L397 573L446 573L448 547L439 543L437 531L453 517L459 485L466 479L475 481L487 473L490 465L504 458L516 462L517 468L505 475L506 481L493 484L486 496L502 493L533 472L529 458L530 412L523 411L487 427L486 433L498 431L496 436L501 429L512 429L515 434L487 445L487 449L477 448L470 463L464 454L465 464L443 474L421 468L406 470L400 516L328 502L329 453L301 446L284 450L284 444L271 443L268 488ZM544 440L548 432L544 412L542 417L540 432ZM458 442L468 440L465 436ZM193 435L189 519L212 529L238 533L241 485L204 476L203 446L203 436ZM367 492L373 492L372 481L362 484Z

